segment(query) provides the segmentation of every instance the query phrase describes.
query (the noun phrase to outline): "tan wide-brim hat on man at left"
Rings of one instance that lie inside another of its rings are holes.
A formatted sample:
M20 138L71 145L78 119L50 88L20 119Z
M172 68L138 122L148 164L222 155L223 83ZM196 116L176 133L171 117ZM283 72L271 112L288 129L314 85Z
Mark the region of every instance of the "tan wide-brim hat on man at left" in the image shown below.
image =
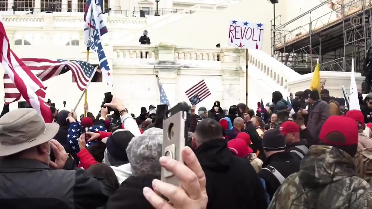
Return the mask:
M10 111L0 118L0 157L48 142L59 128L57 123L44 123L35 109Z

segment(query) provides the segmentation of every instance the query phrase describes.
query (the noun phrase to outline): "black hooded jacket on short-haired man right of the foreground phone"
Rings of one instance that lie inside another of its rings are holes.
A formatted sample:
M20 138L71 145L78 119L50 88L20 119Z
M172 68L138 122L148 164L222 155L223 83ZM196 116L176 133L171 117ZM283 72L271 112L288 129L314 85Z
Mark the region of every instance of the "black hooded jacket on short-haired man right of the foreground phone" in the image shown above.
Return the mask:
M207 209L264 209L266 193L247 158L236 157L227 141L213 139L195 149L207 182Z

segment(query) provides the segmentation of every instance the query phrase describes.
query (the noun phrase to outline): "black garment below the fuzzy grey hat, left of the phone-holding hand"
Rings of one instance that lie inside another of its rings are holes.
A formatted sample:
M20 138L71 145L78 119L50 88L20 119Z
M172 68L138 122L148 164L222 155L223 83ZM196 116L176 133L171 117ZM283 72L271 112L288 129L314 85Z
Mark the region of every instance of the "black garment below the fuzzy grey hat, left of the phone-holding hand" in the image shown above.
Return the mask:
M131 176L125 179L118 190L110 197L106 204L107 209L153 209L153 206L143 196L143 188L153 188L152 182L157 177L148 174L147 176ZM159 178L157 178L159 179Z

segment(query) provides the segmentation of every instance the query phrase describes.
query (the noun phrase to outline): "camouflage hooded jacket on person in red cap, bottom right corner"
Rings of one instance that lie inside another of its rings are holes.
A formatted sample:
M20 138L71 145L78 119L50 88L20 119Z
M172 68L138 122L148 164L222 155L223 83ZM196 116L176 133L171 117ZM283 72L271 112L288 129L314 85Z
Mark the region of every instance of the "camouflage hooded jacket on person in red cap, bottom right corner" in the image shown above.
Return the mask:
M372 189L355 176L353 158L327 145L313 145L300 171L278 188L268 209L367 209Z

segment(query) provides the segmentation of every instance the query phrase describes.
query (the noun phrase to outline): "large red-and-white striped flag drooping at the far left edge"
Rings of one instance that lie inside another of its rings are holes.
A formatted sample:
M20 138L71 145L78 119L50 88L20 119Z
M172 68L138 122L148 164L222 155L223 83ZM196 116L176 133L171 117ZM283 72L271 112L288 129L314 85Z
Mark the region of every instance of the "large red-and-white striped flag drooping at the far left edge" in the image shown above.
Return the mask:
M10 49L9 39L2 22L0 22L0 36L0 61L7 77L9 77L8 79L12 81L19 94L36 110L44 122L52 122L50 107L43 100L45 87L42 81Z

